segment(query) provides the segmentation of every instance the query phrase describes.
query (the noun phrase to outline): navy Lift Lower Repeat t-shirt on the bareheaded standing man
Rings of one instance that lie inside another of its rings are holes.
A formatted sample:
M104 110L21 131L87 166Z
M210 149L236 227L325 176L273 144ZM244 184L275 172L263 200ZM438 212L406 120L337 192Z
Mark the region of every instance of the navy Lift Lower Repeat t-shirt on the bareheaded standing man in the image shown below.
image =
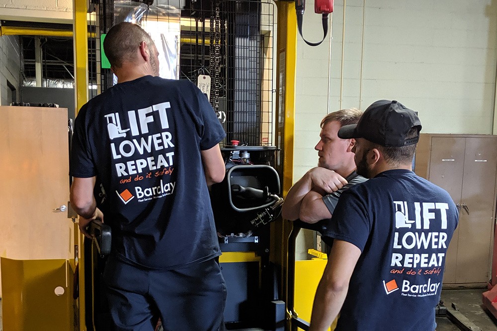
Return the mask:
M225 135L189 81L144 76L81 108L70 175L101 182L112 254L157 269L221 254L200 151Z

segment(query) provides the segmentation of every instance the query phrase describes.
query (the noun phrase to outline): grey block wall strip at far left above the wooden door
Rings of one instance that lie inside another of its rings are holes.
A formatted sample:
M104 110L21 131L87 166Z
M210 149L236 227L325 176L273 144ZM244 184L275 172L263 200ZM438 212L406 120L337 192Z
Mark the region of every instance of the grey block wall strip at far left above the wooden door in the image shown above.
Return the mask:
M0 36L0 105L7 106L7 93L10 87L7 81L16 89L16 99L19 100L20 45L18 36Z

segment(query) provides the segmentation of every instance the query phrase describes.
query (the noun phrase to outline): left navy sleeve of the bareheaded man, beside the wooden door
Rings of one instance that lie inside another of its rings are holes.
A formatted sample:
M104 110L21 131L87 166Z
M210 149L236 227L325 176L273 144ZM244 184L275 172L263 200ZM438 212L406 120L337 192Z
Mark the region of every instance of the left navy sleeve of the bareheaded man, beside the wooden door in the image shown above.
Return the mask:
M85 108L82 108L76 117L74 122L73 137L71 140L69 175L78 178L96 176L96 170L91 157L91 149L84 125L85 113Z

